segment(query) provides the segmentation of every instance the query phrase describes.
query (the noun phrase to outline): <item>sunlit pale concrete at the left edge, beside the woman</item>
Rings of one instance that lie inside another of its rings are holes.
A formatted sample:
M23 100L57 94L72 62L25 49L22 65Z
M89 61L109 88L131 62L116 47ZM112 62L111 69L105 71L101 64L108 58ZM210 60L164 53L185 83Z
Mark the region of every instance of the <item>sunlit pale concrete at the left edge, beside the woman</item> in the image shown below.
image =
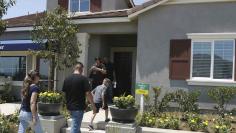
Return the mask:
M20 109L20 103L4 103L0 104L0 114L11 115Z

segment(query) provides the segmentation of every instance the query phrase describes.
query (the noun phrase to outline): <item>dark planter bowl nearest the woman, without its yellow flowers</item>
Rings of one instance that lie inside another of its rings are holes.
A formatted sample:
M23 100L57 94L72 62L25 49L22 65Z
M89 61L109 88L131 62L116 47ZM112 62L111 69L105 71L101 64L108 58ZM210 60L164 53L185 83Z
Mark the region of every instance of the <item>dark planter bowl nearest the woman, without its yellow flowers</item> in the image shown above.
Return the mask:
M56 116L60 115L61 103L38 103L38 112L40 115Z

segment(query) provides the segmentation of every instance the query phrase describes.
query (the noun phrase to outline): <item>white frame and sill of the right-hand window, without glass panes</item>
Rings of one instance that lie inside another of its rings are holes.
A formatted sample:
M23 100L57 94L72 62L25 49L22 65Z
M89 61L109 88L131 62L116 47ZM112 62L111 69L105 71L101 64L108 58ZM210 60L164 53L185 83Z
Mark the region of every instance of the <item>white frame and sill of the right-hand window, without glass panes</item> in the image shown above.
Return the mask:
M214 46L215 46L215 41L232 41L233 42L233 66L232 66L232 79L214 79L213 74L214 74ZM192 70L193 70L193 45L194 42L210 42L211 43L211 69L210 69L210 77L205 78L205 77L193 77L192 76ZM191 64L190 64L190 79L187 80L190 85L213 85L213 86L222 86L225 85L224 83L235 83L234 82L234 73L235 73L235 39L192 39L191 40ZM193 83L193 82L195 82ZM202 83L205 82L205 83ZM206 83L208 82L208 83ZM209 84L209 82L211 82ZM216 84L220 83L220 85ZM236 84L233 84L236 85Z

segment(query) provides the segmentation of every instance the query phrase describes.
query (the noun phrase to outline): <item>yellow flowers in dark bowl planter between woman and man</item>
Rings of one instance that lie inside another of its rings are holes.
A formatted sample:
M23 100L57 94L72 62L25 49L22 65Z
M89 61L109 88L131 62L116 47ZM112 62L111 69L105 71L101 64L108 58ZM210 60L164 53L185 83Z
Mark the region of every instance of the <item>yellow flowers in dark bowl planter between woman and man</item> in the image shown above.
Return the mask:
M60 115L63 96L61 93L46 91L39 94L38 111L40 115Z

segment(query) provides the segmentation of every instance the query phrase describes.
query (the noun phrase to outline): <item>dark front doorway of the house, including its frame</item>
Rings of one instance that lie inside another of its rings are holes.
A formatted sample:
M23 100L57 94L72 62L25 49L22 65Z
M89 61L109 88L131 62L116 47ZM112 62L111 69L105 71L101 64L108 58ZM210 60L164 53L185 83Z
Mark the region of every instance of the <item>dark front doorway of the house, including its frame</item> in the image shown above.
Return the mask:
M134 94L132 88L135 83L136 48L112 48L111 57L117 82L113 90L114 96Z

